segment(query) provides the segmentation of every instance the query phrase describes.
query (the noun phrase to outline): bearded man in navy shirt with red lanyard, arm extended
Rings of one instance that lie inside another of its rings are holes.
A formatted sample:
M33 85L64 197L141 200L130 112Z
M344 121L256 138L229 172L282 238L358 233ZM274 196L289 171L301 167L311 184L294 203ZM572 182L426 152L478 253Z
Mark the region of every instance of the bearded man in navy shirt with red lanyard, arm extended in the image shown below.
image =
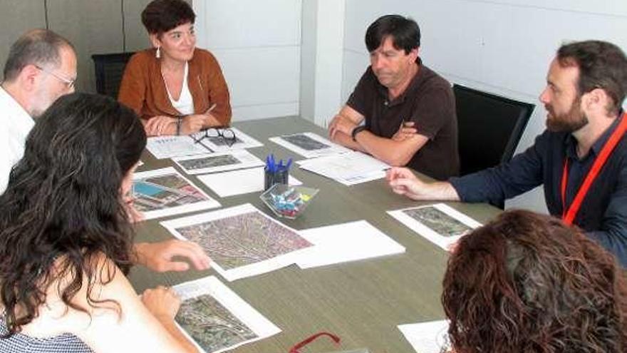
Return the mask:
M627 267L627 58L617 46L561 46L540 95L548 115L534 145L496 168L423 183L388 172L395 193L415 200L504 200L544 185L549 213L586 231Z

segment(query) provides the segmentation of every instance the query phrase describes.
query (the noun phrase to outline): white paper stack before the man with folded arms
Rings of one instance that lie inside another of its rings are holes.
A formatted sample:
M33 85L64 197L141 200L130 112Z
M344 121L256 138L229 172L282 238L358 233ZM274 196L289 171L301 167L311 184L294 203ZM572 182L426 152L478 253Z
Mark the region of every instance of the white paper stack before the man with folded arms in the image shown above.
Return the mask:
M304 170L323 175L344 185L355 185L383 178L385 170L390 168L390 165L358 151L301 160L296 163Z

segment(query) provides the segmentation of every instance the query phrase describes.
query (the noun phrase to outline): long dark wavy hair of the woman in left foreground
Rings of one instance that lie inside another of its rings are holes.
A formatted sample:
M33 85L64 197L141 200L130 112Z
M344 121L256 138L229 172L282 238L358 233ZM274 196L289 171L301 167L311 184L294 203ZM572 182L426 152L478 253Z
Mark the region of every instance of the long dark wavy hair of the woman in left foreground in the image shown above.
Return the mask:
M102 255L127 273L133 245L120 185L138 162L146 135L138 116L112 98L59 98L28 135L24 158L0 196L0 295L8 335L38 315L61 278L61 300L107 283ZM100 261L100 264L103 264ZM104 274L104 275L103 275ZM83 279L87 283L83 283Z

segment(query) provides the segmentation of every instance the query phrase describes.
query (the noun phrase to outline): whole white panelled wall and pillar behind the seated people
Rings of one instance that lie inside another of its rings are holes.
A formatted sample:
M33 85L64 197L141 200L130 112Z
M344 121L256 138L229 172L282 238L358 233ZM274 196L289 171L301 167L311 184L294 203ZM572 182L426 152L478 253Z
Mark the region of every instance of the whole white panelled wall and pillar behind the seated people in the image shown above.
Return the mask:
M517 152L544 129L537 96L564 41L627 50L626 0L199 0L199 46L219 59L234 120L299 114L326 126L368 66L366 28L413 17L420 55L449 81L537 105ZM302 53L302 58L301 58ZM508 207L546 210L541 190Z

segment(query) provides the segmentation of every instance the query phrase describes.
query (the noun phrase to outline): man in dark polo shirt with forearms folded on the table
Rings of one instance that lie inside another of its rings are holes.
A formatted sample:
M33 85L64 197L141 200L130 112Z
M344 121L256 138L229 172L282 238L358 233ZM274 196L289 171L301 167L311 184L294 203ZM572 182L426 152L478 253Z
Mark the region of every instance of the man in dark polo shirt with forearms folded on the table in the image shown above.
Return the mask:
M418 24L382 16L368 27L366 47L371 66L331 121L331 140L439 180L457 175L455 97L418 57Z

